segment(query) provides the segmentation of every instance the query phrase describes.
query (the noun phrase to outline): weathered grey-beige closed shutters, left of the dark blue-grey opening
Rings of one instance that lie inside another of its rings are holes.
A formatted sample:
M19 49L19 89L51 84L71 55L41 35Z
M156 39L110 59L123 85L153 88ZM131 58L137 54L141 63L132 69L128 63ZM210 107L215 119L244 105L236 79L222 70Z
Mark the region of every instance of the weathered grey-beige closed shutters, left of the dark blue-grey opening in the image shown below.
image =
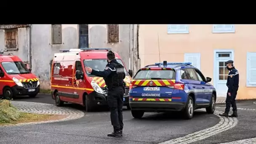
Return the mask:
M62 44L62 27L61 24L51 25L51 44L60 45Z

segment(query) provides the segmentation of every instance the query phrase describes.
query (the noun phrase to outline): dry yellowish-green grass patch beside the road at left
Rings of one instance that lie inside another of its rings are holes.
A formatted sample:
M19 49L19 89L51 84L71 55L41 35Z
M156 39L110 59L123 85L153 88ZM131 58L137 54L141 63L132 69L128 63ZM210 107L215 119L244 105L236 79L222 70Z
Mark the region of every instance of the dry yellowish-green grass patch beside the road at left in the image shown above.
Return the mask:
M8 100L0 100L0 125L59 120L65 115L32 114L19 112Z

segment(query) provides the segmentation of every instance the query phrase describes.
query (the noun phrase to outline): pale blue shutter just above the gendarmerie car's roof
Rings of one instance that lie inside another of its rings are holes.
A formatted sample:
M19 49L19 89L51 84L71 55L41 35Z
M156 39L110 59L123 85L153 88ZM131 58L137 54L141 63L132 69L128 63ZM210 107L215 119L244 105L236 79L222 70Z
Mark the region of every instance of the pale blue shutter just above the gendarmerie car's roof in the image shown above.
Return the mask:
M194 67L200 69L201 55L200 53L185 53L184 62L191 62Z

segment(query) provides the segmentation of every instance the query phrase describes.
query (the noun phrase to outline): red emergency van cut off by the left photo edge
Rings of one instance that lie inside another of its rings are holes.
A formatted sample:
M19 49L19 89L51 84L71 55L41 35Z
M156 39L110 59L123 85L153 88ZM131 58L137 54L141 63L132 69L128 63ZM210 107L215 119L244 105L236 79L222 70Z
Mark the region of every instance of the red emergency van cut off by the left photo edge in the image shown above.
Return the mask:
M35 97L39 91L39 79L21 59L12 53L0 52L0 95L4 99L25 95Z

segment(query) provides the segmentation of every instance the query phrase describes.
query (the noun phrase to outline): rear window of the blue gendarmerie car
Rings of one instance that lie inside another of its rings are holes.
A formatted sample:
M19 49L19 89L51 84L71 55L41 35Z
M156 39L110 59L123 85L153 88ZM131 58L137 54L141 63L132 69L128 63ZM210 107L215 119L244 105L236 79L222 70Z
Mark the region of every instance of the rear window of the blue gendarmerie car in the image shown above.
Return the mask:
M141 70L139 71L133 79L171 79L175 80L175 71L174 70Z

